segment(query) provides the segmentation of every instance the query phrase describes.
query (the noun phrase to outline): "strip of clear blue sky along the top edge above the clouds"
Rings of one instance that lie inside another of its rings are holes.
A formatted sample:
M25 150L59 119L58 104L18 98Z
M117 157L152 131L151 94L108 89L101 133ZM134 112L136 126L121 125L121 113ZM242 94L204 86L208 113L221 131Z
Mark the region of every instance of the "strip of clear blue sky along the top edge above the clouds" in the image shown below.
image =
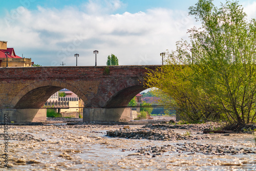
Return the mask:
M65 6L79 7L88 1L80 0L9 0L1 2L1 15L4 15L4 10L15 9L19 6L28 6L30 9L36 10L37 6L43 8L63 8ZM189 5L194 5L197 1L172 1L172 0L122 0L123 7L116 11L116 13L124 13L125 11L136 13L139 11L146 11L151 8L169 8L169 9L180 9L187 10ZM185 5L187 4L187 5ZM3 10L4 9L4 10Z

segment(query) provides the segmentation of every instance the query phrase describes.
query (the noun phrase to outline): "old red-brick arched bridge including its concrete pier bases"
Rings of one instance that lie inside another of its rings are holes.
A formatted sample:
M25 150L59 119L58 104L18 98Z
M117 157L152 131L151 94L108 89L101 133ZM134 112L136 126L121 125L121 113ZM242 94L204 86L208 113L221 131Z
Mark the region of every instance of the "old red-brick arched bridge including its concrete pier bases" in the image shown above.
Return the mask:
M84 101L83 121L127 121L126 106L143 87L147 69L159 66L0 68L0 122L46 120L42 106L66 88ZM7 115L6 115L7 116Z

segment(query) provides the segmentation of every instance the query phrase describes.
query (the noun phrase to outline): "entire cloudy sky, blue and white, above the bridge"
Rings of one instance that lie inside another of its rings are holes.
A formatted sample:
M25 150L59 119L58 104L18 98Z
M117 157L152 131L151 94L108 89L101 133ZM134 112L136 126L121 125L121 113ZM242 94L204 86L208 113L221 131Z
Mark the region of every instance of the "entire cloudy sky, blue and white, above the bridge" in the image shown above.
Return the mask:
M220 2L214 1L219 6ZM161 65L161 52L175 50L197 26L188 15L196 0L0 0L0 40L16 55L41 66ZM239 3L256 18L256 1Z

